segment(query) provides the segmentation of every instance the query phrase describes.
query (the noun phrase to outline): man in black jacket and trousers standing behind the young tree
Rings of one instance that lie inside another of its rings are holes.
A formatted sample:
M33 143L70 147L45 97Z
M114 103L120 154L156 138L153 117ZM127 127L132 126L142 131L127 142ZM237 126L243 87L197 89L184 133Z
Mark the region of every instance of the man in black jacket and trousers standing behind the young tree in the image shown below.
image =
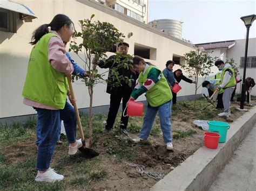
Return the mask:
M129 49L129 44L127 43L119 43L117 45L117 52L122 53L123 55L127 55ZM116 81L108 82L106 93L110 94L110 108L109 114L107 115L105 130L103 133L109 132L113 128L114 121L116 120L117 112L119 109L119 105L121 100L123 99L123 112L126 107L126 103L130 98L133 88L135 87L136 80L138 75L135 72L132 72L131 69L124 68L123 66L118 66L120 63L114 62L114 55L110 56L105 62L100 60L98 66L100 68L117 68L119 76L123 76L127 79L132 80L132 86L130 87L124 81L121 81L120 86L113 86ZM124 60L125 58L120 58L120 60ZM109 74L108 79L111 81L111 75ZM125 134L129 135L129 132L126 130L129 117L123 116L121 117L120 130ZM125 111L126 115L126 111Z

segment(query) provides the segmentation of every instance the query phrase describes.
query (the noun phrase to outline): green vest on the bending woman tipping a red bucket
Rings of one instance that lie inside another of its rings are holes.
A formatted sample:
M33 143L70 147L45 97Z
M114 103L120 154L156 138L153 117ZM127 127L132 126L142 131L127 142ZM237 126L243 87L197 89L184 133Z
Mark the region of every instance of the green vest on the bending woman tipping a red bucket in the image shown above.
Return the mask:
M139 74L138 82L140 83L140 86L143 86L143 83L147 80L147 75L152 68L158 69L156 66L149 66L145 74L143 74L143 72ZM163 73L161 73L160 75L160 80L150 90L146 92L147 102L149 102L152 107L158 107L172 99L172 92L170 86L167 83Z

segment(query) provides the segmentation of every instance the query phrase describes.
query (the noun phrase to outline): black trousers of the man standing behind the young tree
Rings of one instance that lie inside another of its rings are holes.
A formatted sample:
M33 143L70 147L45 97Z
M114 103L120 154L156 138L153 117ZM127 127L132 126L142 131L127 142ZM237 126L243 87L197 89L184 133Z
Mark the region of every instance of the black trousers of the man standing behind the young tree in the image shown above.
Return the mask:
M117 117L117 112L121 103L121 100L123 99L123 111L122 111L122 117L121 117L121 123L120 128L126 129L128 124L129 116L124 117L123 113L126 107L126 103L129 100L131 96L131 88L130 87L118 87L117 94L111 94L110 95L110 108L109 108L109 114L107 115L106 120L106 129L112 129L114 125L114 121ZM126 111L125 114L126 115Z

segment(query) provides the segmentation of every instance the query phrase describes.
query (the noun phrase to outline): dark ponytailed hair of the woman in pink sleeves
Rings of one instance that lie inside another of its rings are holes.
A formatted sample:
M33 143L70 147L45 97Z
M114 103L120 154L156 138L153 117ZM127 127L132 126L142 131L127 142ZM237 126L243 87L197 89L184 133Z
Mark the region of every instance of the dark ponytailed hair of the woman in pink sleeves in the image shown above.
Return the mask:
M63 27L64 25L68 25L68 27L70 27L71 24L73 24L72 20L66 16L66 15L62 15L62 14L58 14L55 17L53 17L51 23L49 24L43 24L41 26L39 26L32 34L32 38L31 38L31 45L35 45L37 43L37 41L39 39L41 39L44 34L49 33L48 27L51 27L51 30L53 31L58 31L61 29L61 27Z

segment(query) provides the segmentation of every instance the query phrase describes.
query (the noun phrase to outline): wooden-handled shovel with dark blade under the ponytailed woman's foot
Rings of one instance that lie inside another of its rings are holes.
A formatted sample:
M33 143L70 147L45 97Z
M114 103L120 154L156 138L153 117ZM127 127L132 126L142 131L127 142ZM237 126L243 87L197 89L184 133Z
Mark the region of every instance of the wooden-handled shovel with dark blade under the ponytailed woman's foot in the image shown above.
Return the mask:
M75 100L75 94L73 91L73 86L72 86L72 82L71 82L71 76L68 76L68 82L69 82L69 89L70 89L70 93L71 93L71 97L73 100ZM87 148L85 147L85 139L84 139L84 133L83 133L83 129L82 129L82 124L80 121L80 117L79 117L79 113L78 113L78 109L77 109L77 104L73 104L73 107L75 108L75 112L76 112L76 117L77 117L77 124L78 124L78 130L79 130L79 135L80 138L82 140L82 144L83 146L78 148L78 150L80 152L82 152L82 154L84 155L84 157L86 158L93 158L99 155L98 152L96 152L95 150L93 150L92 148Z

